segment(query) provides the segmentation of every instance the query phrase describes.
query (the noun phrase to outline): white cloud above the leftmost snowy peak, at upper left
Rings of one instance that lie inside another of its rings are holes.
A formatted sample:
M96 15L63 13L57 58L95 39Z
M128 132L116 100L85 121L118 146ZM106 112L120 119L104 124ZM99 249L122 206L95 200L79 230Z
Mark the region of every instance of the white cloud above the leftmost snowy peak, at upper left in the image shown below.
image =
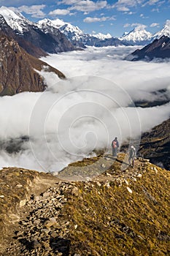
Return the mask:
M45 12L42 11L44 8L45 4L31 6L23 5L13 9L17 10L18 12L25 12L26 14L31 14L31 17L33 18L44 18Z

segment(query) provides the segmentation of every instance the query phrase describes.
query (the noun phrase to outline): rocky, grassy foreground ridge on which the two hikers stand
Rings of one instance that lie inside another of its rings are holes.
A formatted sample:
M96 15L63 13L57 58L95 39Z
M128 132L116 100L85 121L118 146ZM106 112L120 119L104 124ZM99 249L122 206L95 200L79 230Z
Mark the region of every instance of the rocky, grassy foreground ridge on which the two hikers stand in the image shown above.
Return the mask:
M84 159L59 175L88 167L84 181L1 170L1 255L169 255L170 173L126 157Z

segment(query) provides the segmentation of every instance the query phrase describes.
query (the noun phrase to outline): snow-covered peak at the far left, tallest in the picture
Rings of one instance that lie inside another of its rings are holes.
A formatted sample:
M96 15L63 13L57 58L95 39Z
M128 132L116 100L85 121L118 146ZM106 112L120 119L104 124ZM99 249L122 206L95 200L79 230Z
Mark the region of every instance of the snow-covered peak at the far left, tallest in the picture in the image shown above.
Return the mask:
M26 29L28 24L33 24L31 21L24 18L21 13L14 12L4 6L0 7L0 15L4 17L4 20L13 30L17 30L20 33L23 32L23 29Z

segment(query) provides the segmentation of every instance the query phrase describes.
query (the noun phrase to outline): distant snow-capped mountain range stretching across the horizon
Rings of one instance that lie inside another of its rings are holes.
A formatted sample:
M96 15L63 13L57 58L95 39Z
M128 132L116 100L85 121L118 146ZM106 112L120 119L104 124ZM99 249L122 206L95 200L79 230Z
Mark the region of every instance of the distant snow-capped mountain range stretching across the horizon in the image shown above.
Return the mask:
M44 56L45 53L60 53L62 51L80 50L88 46L117 46L117 45L147 45L154 39L159 39L163 35L170 37L170 20L166 20L166 23L155 34L151 34L147 31L144 25L136 26L130 32L125 32L122 37L112 37L111 34L85 34L78 26L73 26L71 23L66 23L63 20L55 19L43 19L38 23L33 23L26 19L19 12L14 12L7 7L0 7L0 29L4 31L4 21L11 29L11 32L15 33L15 37L18 37L18 43L21 40L28 42L29 48L34 45L36 48L40 48L39 56ZM6 29L7 31L7 29ZM11 33L10 32L10 33ZM16 39L16 38L15 38ZM23 42L22 42L23 43ZM28 49L28 45L23 48ZM38 50L36 49L36 56L38 56ZM34 50L30 52L35 54Z

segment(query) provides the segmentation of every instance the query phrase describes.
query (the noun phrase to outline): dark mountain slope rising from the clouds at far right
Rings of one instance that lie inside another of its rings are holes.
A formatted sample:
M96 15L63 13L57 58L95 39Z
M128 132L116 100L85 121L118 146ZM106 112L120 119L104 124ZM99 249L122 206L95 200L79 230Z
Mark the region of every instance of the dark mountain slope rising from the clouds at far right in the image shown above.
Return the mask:
M146 60L151 61L152 59L170 58L170 38L163 36L160 39L155 39L152 43L145 46L141 50L135 50L126 59L131 61Z

